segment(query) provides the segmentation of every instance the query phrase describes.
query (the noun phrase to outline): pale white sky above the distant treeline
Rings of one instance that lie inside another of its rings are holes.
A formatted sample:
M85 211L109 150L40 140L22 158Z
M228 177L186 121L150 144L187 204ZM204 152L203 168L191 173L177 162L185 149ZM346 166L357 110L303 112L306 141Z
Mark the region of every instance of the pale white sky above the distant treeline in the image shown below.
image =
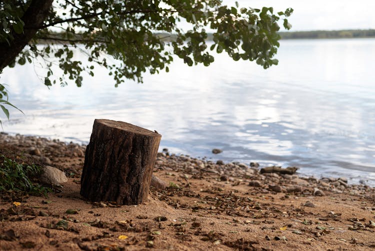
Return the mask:
M237 0L239 7L292 8L291 31L375 29L375 0ZM235 0L223 0L235 6ZM282 30L280 30L282 31Z

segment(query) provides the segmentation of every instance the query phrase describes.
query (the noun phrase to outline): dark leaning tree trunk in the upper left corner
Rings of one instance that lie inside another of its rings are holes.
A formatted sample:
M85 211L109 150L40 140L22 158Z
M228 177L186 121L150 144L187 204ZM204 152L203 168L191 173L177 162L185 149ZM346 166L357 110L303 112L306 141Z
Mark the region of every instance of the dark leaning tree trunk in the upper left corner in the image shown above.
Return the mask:
M0 71L9 65L15 57L22 51L28 42L35 36L44 20L48 17L49 9L53 0L32 0L21 20L24 22L22 34L16 34L13 29L14 40L0 43Z

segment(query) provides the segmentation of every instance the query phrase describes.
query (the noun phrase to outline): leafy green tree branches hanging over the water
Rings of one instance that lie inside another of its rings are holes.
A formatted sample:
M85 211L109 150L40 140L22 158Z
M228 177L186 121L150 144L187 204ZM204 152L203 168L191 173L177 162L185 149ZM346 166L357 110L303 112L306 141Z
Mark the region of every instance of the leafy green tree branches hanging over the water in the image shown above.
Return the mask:
M220 0L3 1L0 69L38 59L48 69L45 85L80 86L83 72L94 76L94 68L103 66L117 86L125 79L142 82L147 71L168 71L173 55L188 66L208 66L211 51L266 69L278 63L279 24L290 29L291 13L228 7ZM207 31L213 33L209 48ZM52 72L54 64L63 74Z

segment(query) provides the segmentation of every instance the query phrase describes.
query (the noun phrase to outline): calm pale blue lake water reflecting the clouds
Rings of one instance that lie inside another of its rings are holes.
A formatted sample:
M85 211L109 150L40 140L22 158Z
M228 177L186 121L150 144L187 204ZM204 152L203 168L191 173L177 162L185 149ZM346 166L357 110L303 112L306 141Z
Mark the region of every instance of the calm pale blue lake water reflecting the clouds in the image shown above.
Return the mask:
M268 70L218 55L208 68L176 60L143 84L114 88L96 69L81 88L50 90L37 66L17 66L1 82L25 115L12 110L3 128L88 143L95 118L120 120L157 130L174 153L375 184L374 56L375 39L290 40Z

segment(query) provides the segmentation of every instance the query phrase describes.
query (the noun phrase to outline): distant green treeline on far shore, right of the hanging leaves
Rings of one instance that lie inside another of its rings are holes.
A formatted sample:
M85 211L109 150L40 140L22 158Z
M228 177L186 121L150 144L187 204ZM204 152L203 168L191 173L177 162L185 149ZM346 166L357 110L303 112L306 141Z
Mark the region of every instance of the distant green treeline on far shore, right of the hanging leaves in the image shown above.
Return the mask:
M281 39L375 38L375 30L280 32Z

